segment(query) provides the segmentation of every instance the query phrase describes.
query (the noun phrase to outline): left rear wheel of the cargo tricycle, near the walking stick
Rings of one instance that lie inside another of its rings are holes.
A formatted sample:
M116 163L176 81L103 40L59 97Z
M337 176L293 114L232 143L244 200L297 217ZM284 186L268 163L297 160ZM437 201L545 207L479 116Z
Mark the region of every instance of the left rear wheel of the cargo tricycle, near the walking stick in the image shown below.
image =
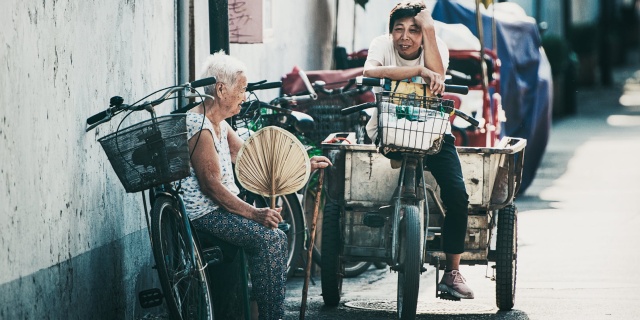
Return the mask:
M322 218L320 280L324 304L331 307L340 303L340 294L342 293L344 264L340 258L341 252L340 207L327 201Z

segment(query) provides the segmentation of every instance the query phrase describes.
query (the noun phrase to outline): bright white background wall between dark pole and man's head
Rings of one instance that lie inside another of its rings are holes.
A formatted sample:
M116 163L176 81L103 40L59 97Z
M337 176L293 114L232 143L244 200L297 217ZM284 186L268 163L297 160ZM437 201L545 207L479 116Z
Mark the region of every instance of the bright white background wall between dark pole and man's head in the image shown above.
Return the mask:
M265 15L271 14L272 26L265 30L264 42L230 46L231 55L247 64L249 81L277 81L295 66L303 70L331 69L336 1L269 2L271 12ZM370 0L366 9L352 0L341 0L338 4L337 43L353 52L368 48L374 37L386 32L389 11L396 2Z

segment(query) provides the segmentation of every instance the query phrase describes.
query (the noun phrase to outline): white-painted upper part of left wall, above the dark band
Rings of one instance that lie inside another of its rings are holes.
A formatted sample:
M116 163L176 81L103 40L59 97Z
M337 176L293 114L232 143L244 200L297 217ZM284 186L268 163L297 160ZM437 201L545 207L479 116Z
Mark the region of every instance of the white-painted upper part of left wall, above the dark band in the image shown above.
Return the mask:
M174 80L172 1L11 1L0 13L0 282L140 229L85 119Z

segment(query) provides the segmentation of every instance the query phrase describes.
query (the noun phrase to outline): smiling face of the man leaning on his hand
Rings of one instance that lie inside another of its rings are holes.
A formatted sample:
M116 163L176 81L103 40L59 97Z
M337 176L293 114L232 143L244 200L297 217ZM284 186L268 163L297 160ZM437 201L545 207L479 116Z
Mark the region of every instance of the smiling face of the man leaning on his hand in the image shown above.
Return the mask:
M396 20L391 37L393 46L403 59L413 60L420 56L422 30L416 25L413 17Z

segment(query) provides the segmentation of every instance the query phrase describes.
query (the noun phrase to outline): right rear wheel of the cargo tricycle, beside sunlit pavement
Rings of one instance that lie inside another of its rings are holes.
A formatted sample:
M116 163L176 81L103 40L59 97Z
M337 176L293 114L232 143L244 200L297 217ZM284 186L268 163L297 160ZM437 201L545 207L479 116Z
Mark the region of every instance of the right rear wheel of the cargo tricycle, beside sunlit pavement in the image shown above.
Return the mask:
M498 211L496 238L496 306L511 310L516 299L518 209L510 204Z

